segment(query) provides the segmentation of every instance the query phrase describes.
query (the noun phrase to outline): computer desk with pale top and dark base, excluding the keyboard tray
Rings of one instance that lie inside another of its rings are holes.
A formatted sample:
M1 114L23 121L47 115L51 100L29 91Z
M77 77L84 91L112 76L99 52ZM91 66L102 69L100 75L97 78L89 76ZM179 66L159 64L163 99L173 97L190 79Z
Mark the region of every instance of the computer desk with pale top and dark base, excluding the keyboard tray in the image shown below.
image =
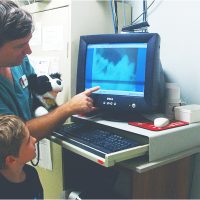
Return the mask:
M116 128L116 124L103 123ZM127 129L126 125L119 126ZM149 137L148 154L110 168L93 162L91 155L78 155L78 149L74 151L66 141L52 136L63 146L64 188L85 191L88 198L189 198L193 155L200 152L200 124L160 133L128 127L132 129L134 134Z

